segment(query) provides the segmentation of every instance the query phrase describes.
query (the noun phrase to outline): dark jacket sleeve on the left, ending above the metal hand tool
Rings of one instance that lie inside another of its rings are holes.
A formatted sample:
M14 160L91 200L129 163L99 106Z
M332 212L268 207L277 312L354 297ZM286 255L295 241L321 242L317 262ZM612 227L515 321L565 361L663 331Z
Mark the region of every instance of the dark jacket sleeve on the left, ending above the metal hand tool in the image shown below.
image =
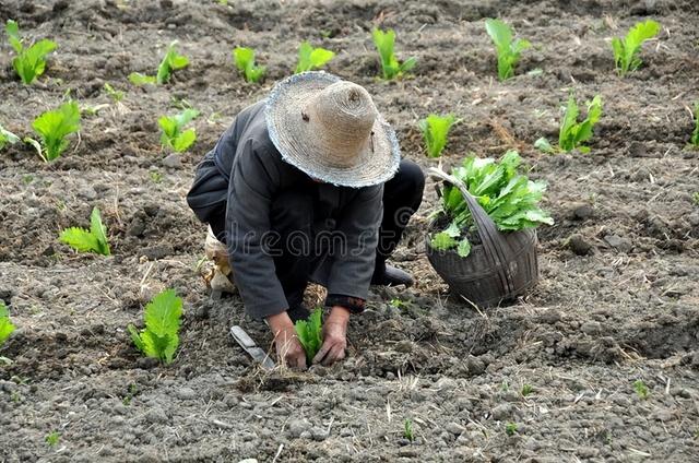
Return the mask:
M268 246L280 171L274 156L256 145L252 139L238 145L228 187L226 232L236 286L248 314L259 319L283 312L288 304Z

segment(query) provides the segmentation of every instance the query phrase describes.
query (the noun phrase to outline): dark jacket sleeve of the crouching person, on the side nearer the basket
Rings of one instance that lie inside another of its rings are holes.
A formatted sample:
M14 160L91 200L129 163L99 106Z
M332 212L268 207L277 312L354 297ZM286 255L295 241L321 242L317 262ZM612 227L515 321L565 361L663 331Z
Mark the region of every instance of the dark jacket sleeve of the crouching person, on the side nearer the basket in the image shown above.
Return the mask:
M346 247L334 256L328 294L366 299L374 275L379 225L383 216L383 185L362 189L341 215L337 229Z

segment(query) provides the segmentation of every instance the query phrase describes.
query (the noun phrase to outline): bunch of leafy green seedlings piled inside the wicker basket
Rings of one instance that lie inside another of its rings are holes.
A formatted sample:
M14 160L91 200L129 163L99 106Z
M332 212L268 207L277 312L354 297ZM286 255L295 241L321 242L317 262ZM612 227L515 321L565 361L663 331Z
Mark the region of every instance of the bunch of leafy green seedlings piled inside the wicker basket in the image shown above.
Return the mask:
M554 223L538 206L546 183L529 180L519 174L520 164L520 155L516 151L508 151L499 162L470 156L451 171L452 176L464 182L501 232ZM471 252L469 237L476 232L471 211L454 186L445 185L441 201L438 223L449 225L431 235L430 245L436 250L455 249L459 256L466 257Z

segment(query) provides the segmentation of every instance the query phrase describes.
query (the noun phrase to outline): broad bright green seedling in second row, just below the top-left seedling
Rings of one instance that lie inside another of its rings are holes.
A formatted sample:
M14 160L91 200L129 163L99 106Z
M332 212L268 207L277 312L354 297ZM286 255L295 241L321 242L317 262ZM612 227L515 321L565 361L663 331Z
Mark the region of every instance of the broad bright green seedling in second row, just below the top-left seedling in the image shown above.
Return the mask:
M49 162L58 158L68 147L68 135L80 130L80 108L78 103L68 102L58 109L46 111L34 119L32 128L39 135L45 155L39 155ZM36 145L35 145L36 147Z

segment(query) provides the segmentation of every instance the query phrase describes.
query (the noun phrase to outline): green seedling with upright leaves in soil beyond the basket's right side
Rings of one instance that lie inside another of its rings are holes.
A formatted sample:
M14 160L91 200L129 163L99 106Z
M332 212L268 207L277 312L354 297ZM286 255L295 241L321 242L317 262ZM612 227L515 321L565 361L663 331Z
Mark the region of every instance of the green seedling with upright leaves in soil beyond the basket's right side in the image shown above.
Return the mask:
M582 143L592 138L592 129L602 117L602 97L596 95L588 106L588 116L582 122L578 122L580 109L572 94L568 98L566 114L560 121L558 132L558 146L553 146L546 138L541 138L534 142L534 147L544 153L569 153L578 149L581 153L590 153L590 147Z

